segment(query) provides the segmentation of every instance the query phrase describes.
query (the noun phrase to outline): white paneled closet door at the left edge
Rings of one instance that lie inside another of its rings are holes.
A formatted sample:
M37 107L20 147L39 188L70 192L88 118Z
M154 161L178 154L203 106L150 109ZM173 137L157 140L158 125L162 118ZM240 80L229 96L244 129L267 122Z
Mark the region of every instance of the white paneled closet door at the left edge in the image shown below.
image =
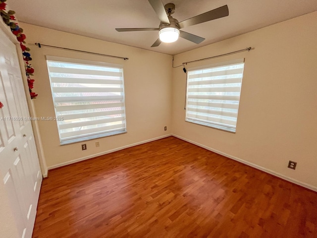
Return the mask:
M0 49L0 182L18 238L31 238L42 174L16 47L1 30Z

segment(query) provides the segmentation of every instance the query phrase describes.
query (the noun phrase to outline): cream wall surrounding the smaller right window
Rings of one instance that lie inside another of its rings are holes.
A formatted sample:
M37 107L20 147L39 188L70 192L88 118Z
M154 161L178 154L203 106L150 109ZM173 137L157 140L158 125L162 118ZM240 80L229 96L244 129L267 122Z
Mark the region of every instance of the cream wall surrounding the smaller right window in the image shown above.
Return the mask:
M245 58L236 133L185 122L185 80L173 69L172 133L317 190L317 12L178 54L174 65L253 47L186 67ZM296 170L287 168L297 162Z

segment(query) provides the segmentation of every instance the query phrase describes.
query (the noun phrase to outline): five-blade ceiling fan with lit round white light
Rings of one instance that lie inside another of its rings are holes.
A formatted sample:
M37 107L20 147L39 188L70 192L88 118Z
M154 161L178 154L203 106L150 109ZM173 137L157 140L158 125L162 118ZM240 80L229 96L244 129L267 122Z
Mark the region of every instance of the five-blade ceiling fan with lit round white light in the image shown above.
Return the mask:
M187 20L178 22L175 18L171 16L175 12L175 5L173 3L167 3L163 5L161 0L149 0L153 9L159 16L160 24L159 28L115 28L119 32L123 31L159 31L159 39L151 46L157 47L161 42L171 43L178 39L178 36L194 42L196 44L201 43L205 38L190 34L180 29L203 23L206 21L211 21L224 16L229 15L229 9L227 5L220 6L211 11L207 11L203 14L191 17Z

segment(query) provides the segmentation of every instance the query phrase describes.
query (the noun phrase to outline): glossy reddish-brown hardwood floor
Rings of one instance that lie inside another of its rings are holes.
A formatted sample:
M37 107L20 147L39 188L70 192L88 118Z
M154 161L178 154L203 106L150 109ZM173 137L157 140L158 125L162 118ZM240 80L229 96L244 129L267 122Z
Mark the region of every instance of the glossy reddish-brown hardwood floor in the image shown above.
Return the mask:
M175 137L51 170L33 238L316 238L317 193Z

